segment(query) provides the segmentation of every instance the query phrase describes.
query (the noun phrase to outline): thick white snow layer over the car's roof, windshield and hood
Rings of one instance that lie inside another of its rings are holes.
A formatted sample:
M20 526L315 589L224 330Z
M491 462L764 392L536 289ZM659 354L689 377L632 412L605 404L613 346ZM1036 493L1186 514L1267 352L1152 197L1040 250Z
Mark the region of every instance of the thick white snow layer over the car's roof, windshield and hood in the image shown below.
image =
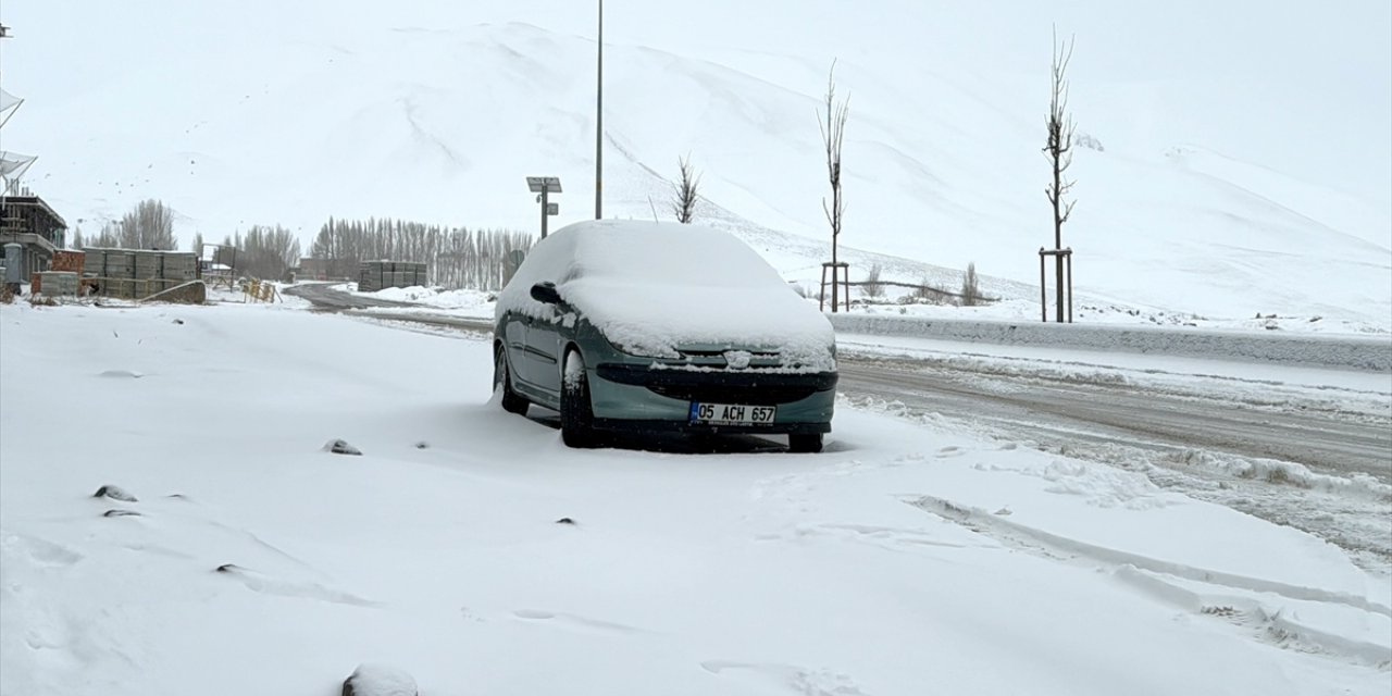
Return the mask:
M622 349L675 358L682 345L777 349L803 370L835 367L825 316L734 235L709 227L593 220L537 242L498 296L497 316L560 320L540 281Z

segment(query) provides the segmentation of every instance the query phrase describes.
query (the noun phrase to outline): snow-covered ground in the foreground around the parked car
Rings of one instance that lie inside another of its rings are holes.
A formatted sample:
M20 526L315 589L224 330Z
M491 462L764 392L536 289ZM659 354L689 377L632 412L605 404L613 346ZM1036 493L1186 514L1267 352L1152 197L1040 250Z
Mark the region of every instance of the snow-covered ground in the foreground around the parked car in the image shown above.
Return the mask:
M486 341L287 305L17 303L0 349L3 693L1392 689L1338 547L933 420L572 451Z

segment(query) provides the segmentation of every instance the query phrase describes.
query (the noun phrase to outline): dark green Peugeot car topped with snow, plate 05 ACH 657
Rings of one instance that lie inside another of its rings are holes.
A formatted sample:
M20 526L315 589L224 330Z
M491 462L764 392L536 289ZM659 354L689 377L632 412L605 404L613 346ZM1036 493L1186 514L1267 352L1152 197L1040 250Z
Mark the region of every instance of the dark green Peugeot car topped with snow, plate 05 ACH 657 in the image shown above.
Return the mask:
M604 432L786 434L821 451L835 334L753 249L677 223L594 220L528 253L498 295L494 393L560 411L571 447Z

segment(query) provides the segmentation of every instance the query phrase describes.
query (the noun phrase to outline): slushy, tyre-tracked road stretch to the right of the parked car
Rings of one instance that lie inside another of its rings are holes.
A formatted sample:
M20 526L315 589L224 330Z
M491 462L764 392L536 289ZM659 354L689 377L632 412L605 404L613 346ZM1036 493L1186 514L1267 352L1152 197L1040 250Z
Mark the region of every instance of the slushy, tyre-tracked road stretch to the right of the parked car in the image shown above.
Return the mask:
M842 337L842 393L1313 533L1392 572L1392 391L1379 373ZM888 344L888 345L887 345Z

